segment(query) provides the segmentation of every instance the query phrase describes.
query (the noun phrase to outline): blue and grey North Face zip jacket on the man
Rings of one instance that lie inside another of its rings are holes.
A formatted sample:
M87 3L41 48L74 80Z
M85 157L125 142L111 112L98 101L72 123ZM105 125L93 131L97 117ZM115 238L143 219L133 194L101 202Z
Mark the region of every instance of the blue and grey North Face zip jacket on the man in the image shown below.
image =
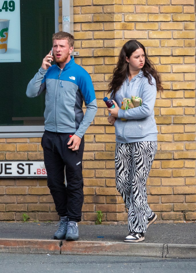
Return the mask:
M82 138L97 112L97 102L91 77L71 60L61 70L56 64L39 69L29 82L26 95L39 96L46 90L45 127L51 132L75 133ZM85 115L82 110L86 106Z

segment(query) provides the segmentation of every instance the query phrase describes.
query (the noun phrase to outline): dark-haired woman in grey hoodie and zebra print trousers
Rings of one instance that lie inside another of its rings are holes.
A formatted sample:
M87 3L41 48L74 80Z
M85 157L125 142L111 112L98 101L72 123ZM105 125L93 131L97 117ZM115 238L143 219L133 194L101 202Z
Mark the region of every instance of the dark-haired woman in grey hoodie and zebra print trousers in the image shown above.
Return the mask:
M157 216L147 202L146 180L157 151L154 104L162 92L160 75L148 59L145 48L136 40L124 44L114 69L109 92L115 108L108 108L109 123L116 134L116 185L128 209L129 234L125 242L144 240L144 233ZM123 98L137 96L142 105L120 109ZM121 119L125 119L121 120Z

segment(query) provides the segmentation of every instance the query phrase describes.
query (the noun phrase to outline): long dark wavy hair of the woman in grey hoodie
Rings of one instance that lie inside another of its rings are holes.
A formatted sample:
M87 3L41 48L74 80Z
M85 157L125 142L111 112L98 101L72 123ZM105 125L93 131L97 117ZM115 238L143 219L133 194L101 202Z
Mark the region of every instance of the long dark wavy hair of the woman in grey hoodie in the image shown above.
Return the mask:
M126 44L124 44L124 46L121 49L117 67L115 67L113 71L113 76L111 78L111 82L109 83L108 93L111 93L113 91L113 94L112 94L113 98L115 97L116 92L119 90L119 88L123 84L128 74L128 62L126 61L126 57L130 58L132 53L136 51L138 48L142 48L144 50L145 63L144 63L144 66L142 67L144 76L148 78L148 82L151 85L152 85L152 76L153 76L156 80L157 92L163 91L160 74L157 72L154 65L148 59L148 56L146 55L145 47L137 40L130 40L126 42Z

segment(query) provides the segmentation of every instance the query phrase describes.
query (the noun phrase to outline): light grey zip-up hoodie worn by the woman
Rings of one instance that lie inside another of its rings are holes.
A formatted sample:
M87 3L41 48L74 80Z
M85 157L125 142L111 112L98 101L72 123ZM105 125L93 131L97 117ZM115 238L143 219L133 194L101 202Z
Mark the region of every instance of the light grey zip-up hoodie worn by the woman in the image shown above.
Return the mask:
M152 85L142 70L129 82L128 77L115 95L115 101L121 108L123 98L137 96L142 98L142 105L133 109L119 109L118 118L114 123L116 141L131 143L138 141L156 141L157 127L154 119L156 100L156 81L152 77ZM111 93L111 98L112 93ZM127 119L122 121L121 118Z

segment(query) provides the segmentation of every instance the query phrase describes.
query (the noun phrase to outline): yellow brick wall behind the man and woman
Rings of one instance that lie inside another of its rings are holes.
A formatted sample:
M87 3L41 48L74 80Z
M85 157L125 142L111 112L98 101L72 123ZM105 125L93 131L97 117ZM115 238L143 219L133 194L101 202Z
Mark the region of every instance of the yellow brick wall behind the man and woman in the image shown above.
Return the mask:
M115 130L103 97L119 51L132 38L144 44L164 86L154 109L158 152L147 181L148 202L158 221L195 220L195 1L74 0L74 36L75 62L91 75L99 107L85 135L82 222L94 222L97 210L105 224L127 220L115 188ZM43 158L39 138L0 142L1 160ZM1 179L0 220L21 220L24 212L30 220L58 219L46 179Z

